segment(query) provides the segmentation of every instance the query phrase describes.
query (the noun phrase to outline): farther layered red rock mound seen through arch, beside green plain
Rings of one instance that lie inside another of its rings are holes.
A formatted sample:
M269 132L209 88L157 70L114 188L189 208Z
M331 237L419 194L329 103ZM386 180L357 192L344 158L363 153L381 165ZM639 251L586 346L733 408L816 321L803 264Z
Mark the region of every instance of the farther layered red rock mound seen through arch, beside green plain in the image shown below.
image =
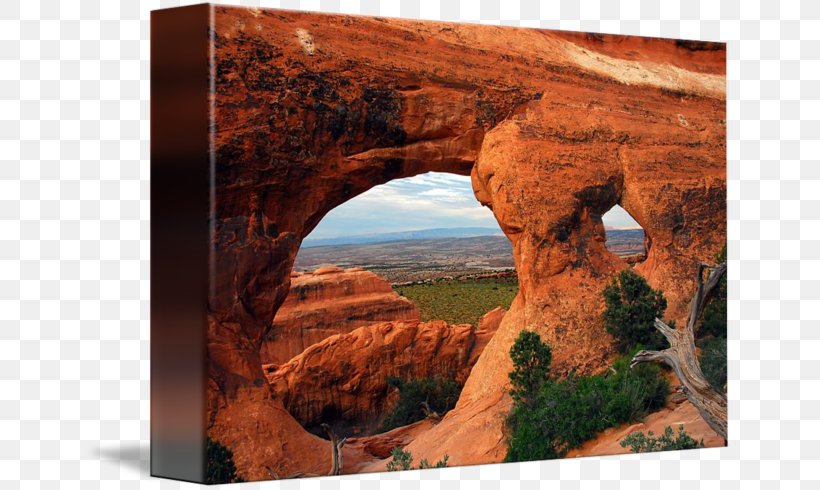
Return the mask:
M379 322L418 320L416 305L372 272L321 267L293 273L260 358L264 364L281 364L334 334Z

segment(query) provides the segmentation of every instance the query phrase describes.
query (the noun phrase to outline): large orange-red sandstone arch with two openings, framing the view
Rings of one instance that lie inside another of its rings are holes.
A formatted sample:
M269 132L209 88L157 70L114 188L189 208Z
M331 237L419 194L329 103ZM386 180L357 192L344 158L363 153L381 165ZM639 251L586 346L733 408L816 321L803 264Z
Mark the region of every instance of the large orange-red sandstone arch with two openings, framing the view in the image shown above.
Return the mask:
M271 399L259 350L301 240L373 186L472 175L513 244L518 296L458 406L408 446L451 465L503 458L522 329L552 345L558 372L606 366L599 293L626 267L604 247L609 207L644 228L635 270L665 292L669 318L725 242L723 45L214 9L208 430L246 479L327 471L329 443Z

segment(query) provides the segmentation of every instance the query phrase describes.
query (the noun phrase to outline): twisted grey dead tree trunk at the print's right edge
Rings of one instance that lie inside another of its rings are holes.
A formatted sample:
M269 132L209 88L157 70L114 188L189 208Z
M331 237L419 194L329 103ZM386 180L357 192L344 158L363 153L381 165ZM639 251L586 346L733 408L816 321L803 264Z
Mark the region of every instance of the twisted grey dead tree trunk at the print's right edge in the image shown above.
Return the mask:
M711 271L705 283L703 281L704 270ZM725 274L726 262L715 267L700 264L697 290L689 304L689 320L686 325L674 329L656 318L655 328L669 342L669 347L662 351L642 350L635 354L630 363L630 367L641 362L659 362L671 367L683 383L683 392L686 397L698 409L709 427L724 439L727 438L728 420L726 394L712 388L700 369L695 353L695 330L703 309Z

